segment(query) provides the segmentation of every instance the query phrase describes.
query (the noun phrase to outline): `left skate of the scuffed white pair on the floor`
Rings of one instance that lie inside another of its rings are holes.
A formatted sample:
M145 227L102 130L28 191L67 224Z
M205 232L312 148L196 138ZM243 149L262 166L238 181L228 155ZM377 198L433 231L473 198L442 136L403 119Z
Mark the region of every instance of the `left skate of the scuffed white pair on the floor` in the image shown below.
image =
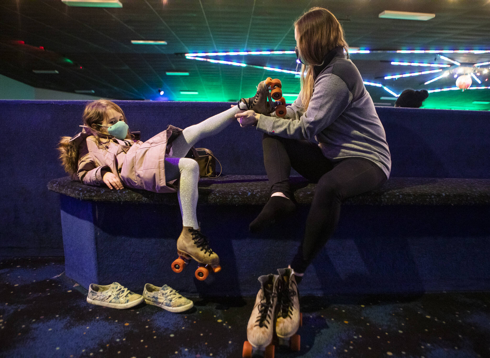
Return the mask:
M274 358L274 313L277 303L277 290L280 278L269 274L259 277L262 286L257 293L252 314L246 328L247 340L244 342L243 357L260 355Z

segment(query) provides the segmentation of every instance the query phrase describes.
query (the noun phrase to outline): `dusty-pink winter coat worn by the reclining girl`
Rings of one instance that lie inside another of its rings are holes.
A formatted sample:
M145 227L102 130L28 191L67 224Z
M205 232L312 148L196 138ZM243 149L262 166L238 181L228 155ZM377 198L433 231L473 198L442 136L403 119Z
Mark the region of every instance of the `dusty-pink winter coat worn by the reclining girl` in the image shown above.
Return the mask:
M146 142L128 146L115 138L98 144L84 128L72 139L80 141L76 175L86 185L100 186L103 175L110 171L119 175L126 188L175 192L165 180L164 161L172 156L172 141L180 132L182 129L169 125Z

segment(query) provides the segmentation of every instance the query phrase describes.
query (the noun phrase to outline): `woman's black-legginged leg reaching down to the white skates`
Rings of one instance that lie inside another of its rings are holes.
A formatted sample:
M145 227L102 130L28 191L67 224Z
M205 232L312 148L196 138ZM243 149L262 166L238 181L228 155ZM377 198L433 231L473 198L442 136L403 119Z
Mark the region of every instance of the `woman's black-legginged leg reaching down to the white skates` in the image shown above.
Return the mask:
M318 181L313 202L306 219L303 242L291 267L294 272L305 272L339 222L342 201L354 195L373 190L386 181L380 167L365 158L347 158Z

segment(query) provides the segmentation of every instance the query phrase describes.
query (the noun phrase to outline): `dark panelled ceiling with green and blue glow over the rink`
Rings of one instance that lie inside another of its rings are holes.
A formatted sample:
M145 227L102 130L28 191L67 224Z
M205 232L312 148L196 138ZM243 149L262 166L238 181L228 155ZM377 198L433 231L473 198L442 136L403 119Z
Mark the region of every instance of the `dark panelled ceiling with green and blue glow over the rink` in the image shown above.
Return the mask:
M70 7L61 0L1 0L0 73L34 87L94 90L97 96L118 99L237 100L254 95L257 83L268 76L283 81L283 92L298 93L294 74L189 60L182 53L292 50L293 21L312 6L326 7L339 18L351 47L490 49L490 0L121 2L122 8L95 8ZM429 21L379 19L383 10L434 13L436 17ZM168 45L132 45L131 40L165 40ZM490 61L490 53L446 56L467 63ZM213 58L293 71L296 67L294 55ZM449 64L433 54L369 53L353 54L351 59L365 81L382 83L396 93L405 88L454 87L452 76L423 85L438 73L383 78L434 69L393 66L390 61ZM168 71L190 75L169 76L165 74ZM158 89L165 94L160 96ZM382 88L367 89L374 102L391 96ZM180 91L196 91L198 95L182 95ZM472 92L473 100L490 98L490 90Z

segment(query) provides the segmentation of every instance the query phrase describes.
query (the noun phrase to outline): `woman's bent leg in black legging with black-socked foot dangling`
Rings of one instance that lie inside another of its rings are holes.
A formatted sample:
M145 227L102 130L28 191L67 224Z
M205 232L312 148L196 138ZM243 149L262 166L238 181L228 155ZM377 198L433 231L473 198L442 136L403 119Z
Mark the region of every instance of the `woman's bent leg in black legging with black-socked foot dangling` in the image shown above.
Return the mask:
M308 141L264 134L262 148L271 197L260 214L250 223L251 232L261 231L276 218L294 211L295 205L289 200L292 196L289 184L292 166L299 174L315 183L321 175L333 168L333 164L323 156L318 145Z

